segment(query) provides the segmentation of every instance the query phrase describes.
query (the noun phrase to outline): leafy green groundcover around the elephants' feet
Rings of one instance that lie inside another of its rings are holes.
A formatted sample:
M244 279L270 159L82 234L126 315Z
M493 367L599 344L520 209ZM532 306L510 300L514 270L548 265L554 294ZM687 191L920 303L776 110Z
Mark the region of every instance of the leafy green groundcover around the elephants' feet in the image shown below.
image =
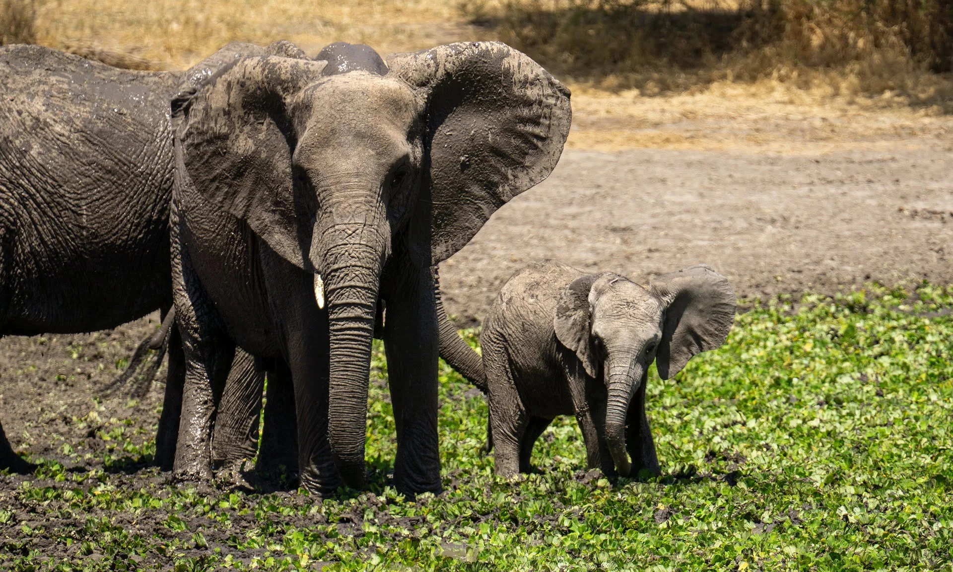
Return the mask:
M46 464L3 495L0 568L950 570L951 308L953 288L928 284L756 306L719 351L652 374L665 474L616 485L585 471L573 419L537 442L538 474L494 479L484 401L441 365L446 492L416 502L385 486L394 422L377 347L373 492L203 493L154 469Z

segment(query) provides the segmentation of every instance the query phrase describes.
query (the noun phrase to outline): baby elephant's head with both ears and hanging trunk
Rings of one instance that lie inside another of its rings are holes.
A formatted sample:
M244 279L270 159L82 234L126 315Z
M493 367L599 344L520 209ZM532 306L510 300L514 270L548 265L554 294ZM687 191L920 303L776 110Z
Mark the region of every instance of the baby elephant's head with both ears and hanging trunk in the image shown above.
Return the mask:
M655 360L662 379L724 343L735 319L728 280L704 264L652 280L648 290L625 276L582 276L559 298L554 326L589 376L608 390L605 437L620 475L628 476L626 416Z

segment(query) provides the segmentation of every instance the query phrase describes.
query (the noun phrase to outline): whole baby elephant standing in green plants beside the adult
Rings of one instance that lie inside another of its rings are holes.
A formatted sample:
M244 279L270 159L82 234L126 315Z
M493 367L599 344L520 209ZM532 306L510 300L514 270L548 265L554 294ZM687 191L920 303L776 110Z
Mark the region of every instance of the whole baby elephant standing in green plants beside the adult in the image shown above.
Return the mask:
M480 336L497 475L529 472L533 443L553 418L569 414L591 468L659 474L645 418L649 365L655 360L659 376L671 378L719 347L735 305L728 280L703 264L659 276L648 289L558 262L519 271Z

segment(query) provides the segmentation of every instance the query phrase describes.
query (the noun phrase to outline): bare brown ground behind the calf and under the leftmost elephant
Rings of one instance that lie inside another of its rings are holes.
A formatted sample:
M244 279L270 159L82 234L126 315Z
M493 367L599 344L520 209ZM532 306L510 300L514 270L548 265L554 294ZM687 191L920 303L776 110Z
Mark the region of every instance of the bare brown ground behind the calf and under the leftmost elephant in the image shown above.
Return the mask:
M951 249L953 153L940 145L816 156L568 150L547 181L447 260L441 277L448 310L467 325L509 276L540 258L638 280L706 262L752 299L868 280L950 283ZM152 315L107 332L0 340L0 419L14 447L86 471L101 467L105 452L121 456L127 440L134 449L152 439L161 384L141 403L97 396L157 326ZM113 484L168 479L117 466ZM0 478L0 502L31 479ZM10 510L0 523L6 542L30 522L28 504Z

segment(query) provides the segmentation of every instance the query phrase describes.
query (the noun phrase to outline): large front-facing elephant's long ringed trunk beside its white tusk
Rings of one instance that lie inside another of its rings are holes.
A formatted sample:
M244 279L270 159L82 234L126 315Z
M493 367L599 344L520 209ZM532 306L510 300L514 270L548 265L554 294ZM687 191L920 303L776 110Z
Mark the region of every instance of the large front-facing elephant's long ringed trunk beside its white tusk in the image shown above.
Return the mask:
M327 301L330 329L328 441L338 474L354 488L364 481L371 343L390 235L386 218L369 222L338 223L323 232L329 246L319 250L323 276L315 277L315 298L318 305L322 295Z

